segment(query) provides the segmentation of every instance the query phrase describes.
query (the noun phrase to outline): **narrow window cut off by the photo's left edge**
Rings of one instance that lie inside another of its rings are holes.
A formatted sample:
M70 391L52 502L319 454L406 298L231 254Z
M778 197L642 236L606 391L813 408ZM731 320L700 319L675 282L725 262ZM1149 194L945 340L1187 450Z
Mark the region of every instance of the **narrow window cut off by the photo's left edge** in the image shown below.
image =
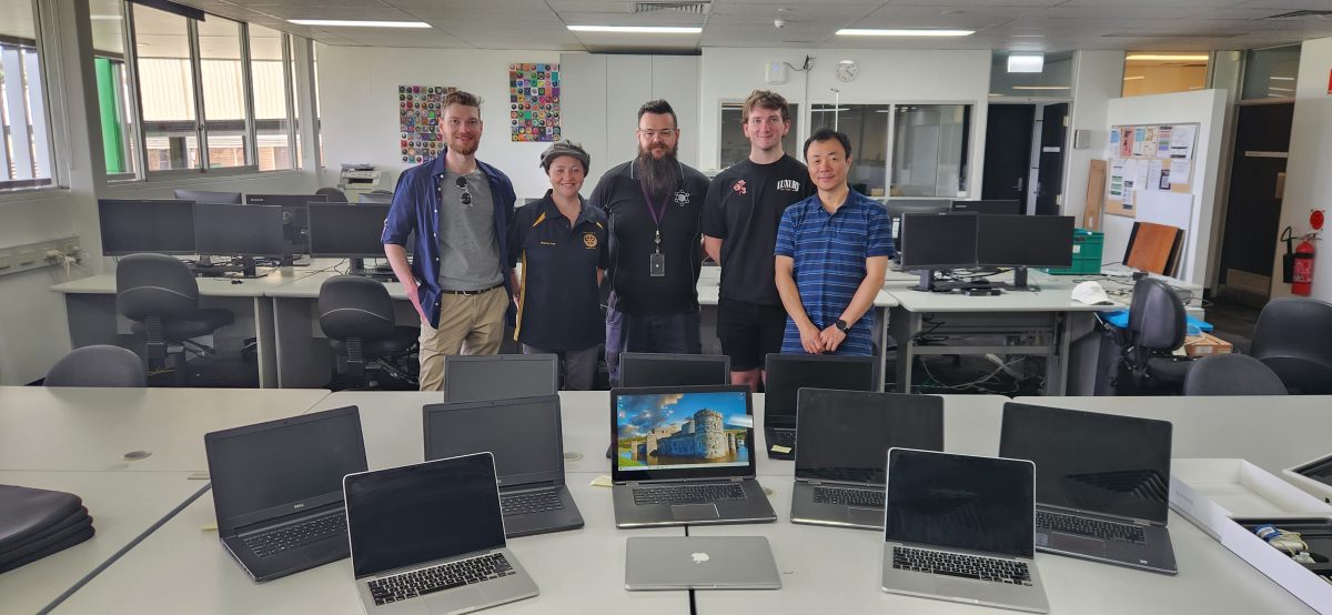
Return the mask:
M53 185L32 0L0 0L0 190Z

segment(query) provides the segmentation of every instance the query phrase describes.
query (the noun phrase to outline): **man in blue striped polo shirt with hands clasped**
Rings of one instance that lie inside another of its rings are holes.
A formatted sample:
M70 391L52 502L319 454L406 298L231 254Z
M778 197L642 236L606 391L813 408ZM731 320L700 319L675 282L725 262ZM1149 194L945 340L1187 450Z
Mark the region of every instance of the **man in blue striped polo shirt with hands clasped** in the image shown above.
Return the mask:
M786 208L777 230L783 353L872 354L874 297L892 256L888 213L851 190L851 141L821 128L805 141L818 194Z

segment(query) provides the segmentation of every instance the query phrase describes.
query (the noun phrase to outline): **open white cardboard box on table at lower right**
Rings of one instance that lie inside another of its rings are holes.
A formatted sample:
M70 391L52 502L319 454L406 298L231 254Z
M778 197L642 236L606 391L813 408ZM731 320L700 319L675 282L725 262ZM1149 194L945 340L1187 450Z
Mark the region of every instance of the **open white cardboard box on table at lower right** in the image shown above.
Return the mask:
M1332 506L1244 459L1172 459L1169 506L1321 614L1332 614L1332 584L1232 518L1332 518Z

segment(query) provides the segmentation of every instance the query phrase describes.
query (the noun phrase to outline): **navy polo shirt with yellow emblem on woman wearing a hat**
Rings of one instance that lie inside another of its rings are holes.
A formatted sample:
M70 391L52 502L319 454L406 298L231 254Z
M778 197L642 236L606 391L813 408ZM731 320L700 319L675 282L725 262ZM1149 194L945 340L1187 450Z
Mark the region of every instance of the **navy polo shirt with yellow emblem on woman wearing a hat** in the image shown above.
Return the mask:
M606 339L597 270L610 261L606 214L586 201L578 220L545 198L518 208L509 265L522 264L514 339L542 350L586 350Z

